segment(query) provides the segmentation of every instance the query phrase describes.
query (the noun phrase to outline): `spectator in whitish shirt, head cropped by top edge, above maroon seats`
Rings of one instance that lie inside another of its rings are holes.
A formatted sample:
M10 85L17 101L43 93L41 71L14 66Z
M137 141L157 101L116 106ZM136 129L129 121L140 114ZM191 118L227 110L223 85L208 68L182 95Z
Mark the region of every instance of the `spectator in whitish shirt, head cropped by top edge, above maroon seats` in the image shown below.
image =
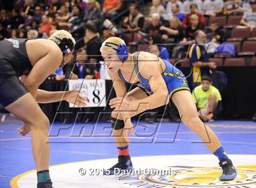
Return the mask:
M202 10L204 15L215 17L223 12L223 0L205 0Z

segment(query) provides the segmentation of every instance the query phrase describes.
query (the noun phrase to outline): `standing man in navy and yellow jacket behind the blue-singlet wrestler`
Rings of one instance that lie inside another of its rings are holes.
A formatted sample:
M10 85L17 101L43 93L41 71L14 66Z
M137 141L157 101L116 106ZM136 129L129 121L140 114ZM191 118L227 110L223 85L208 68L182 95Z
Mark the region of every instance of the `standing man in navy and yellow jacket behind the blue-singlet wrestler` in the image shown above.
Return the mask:
M212 70L216 69L215 62L209 62L207 52L205 50L206 35L202 30L195 33L196 44L191 45L188 52L190 64L193 66L192 86L199 86L202 76L210 76Z

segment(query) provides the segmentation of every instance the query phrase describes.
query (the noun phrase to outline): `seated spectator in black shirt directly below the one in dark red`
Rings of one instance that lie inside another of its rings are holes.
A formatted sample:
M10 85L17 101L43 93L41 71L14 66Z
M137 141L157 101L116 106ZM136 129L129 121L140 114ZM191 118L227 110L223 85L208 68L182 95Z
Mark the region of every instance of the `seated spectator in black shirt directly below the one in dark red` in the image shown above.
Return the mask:
M185 38L183 38L183 42L193 43L194 35L197 30L202 29L201 25L199 25L199 18L197 15L190 16L191 25L185 30Z

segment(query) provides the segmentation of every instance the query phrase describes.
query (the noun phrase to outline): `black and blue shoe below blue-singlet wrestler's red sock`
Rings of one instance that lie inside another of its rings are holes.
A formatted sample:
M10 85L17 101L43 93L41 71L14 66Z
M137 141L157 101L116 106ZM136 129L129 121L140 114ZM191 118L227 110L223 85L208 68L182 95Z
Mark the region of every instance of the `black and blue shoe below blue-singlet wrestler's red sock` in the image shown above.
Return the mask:
M130 160L130 156L119 155L118 163L116 163L113 167L104 171L104 175L119 175L130 172L133 169L132 161Z

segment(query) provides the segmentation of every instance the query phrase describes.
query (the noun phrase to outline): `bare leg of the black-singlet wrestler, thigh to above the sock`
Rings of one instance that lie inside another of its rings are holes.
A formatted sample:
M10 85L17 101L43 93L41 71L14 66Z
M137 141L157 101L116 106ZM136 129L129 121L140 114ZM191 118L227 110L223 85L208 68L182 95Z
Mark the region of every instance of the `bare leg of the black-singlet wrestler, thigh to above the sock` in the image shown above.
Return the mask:
M37 172L49 169L49 120L30 93L5 107L28 125L31 130L32 152Z

